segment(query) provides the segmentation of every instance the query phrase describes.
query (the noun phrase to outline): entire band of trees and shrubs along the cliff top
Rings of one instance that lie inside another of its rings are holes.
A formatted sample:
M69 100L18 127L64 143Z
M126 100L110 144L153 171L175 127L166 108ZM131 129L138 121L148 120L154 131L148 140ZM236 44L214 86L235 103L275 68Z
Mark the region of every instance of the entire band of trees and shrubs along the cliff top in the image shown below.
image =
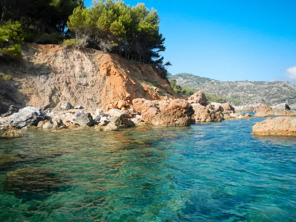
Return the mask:
M24 42L89 47L156 67L166 77L160 52L165 38L160 18L141 3L98 0L91 8L83 0L2 0L0 2L0 55L21 58Z

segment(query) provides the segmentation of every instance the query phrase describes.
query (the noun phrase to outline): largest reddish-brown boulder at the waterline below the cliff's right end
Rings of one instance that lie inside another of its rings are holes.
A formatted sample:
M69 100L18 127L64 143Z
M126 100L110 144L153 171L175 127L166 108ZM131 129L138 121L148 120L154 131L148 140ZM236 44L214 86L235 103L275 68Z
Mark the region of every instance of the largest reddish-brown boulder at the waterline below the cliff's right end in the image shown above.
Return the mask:
M158 126L187 126L194 123L191 118L193 113L192 106L186 100L175 99L151 118L151 123ZM144 120L143 115L142 117Z

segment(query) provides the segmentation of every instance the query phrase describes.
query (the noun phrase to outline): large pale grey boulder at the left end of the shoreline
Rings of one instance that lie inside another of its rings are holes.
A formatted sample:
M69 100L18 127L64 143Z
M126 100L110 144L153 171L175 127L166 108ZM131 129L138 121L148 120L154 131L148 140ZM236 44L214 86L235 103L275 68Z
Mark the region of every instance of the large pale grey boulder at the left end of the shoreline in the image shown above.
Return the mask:
M45 120L46 113L39 108L25 107L14 113L9 118L9 125L16 128L25 126L37 126L38 122Z

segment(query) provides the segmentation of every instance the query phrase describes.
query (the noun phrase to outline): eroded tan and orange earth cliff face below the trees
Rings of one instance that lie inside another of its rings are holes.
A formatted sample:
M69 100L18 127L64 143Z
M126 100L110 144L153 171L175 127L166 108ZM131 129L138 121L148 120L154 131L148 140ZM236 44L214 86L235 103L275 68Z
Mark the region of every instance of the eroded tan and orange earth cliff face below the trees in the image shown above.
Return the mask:
M124 100L178 98L170 83L147 64L97 50L27 44L20 63L0 63L0 101L6 105L59 109L64 102L87 110L117 108Z

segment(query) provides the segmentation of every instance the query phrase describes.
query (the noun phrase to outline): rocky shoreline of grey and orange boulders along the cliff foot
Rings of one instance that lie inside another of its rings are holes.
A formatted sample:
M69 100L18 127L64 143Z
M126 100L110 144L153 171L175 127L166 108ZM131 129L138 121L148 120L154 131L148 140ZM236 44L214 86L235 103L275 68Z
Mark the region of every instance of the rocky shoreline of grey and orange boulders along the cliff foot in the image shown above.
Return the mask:
M135 127L138 125L152 124L157 126L188 126L202 122L221 122L228 119L252 118L255 116L266 117L271 115L296 115L287 104L269 107L259 104L255 107L248 105L236 111L228 103L208 103L205 94L198 91L187 99L166 98L163 100L134 99L132 105L127 101L119 100L116 109L103 111L84 110L81 106L72 107L69 102L64 102L59 108L47 109L25 107L18 111L17 107L10 107L0 117L0 129L9 130L2 137L15 138L23 134L16 129L44 129L63 130L68 128L94 127L98 131L117 131L121 128ZM284 117L285 118L285 117ZM292 118L292 117L291 117ZM258 131L255 130L256 134ZM293 135L293 133L291 134Z

